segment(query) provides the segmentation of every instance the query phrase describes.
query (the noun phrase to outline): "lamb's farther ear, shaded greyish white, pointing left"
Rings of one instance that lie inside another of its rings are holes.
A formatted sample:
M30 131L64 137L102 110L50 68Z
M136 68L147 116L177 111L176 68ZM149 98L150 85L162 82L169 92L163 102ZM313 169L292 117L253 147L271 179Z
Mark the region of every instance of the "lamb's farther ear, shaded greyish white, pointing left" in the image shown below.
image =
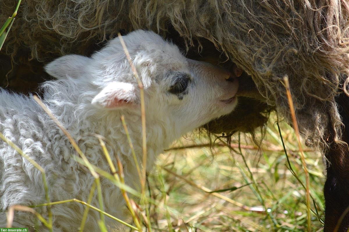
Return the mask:
M77 78L84 73L90 61L91 58L82 55L65 55L48 63L45 71L57 79L65 79L67 76Z

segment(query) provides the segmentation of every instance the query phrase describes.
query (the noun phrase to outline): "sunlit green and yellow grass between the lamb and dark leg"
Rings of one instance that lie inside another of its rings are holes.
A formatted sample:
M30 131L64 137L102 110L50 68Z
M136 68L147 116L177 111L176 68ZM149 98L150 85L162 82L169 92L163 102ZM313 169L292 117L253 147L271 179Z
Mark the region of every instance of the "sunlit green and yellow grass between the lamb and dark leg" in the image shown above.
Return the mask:
M302 186L305 175L297 138L290 126L280 125L292 170L299 180L288 168L275 120L272 116L261 149L254 148L251 139L241 135L242 154L238 148L231 152L215 147L212 155L209 148L198 147L162 155L157 172L149 177L152 198L165 205L151 207L154 231L306 231L306 191ZM233 137L234 147L238 147L238 140L238 135ZM202 142L182 139L173 147ZM321 231L324 165L319 152L304 145L303 148L310 173L311 231ZM246 184L249 185L233 188ZM196 185L221 190L219 193L232 201ZM233 191L224 191L229 188Z

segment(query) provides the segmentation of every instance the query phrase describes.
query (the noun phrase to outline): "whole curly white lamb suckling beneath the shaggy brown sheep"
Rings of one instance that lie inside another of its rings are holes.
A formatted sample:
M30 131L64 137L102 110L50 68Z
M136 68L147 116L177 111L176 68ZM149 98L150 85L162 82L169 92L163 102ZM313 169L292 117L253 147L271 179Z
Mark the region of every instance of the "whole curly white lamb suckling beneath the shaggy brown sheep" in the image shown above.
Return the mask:
M208 63L186 59L178 47L154 32L138 30L123 37L144 85L147 126L147 170L156 156L180 136L231 112L237 104L238 82L230 73ZM69 131L90 163L110 172L98 139L110 141L108 151L118 155L125 182L139 188L131 149L121 124L125 115L139 162L142 160L140 91L119 38L92 55L66 55L46 66L54 81L43 84L42 101ZM32 96L0 89L0 132L41 165L46 173L52 202L87 201L94 178L72 156L75 150L64 133ZM120 189L101 179L105 211L125 220L129 217ZM0 142L0 227L6 226L6 210L14 204L46 203L42 175L12 147ZM98 207L98 201L92 201ZM53 231L77 231L84 212L79 203L52 206ZM47 217L46 207L35 208ZM86 228L99 231L99 214L90 210ZM123 230L105 218L111 231ZM16 211L13 227L34 230L38 220ZM36 225L47 231L44 225Z

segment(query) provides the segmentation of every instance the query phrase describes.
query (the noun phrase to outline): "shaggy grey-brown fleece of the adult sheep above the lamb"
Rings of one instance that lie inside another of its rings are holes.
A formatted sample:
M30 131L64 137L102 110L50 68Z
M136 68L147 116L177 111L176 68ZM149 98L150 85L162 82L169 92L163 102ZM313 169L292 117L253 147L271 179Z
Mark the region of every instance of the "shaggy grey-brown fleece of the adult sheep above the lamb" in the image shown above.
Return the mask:
M0 0L1 22L14 5ZM22 2L17 18L2 51L15 62L82 54L120 29L165 36L172 28L187 46L206 38L251 75L267 103L290 121L281 82L288 75L309 144L325 147L328 124L336 139L341 136L334 97L349 69L347 0L32 0ZM229 118L224 123L228 128Z

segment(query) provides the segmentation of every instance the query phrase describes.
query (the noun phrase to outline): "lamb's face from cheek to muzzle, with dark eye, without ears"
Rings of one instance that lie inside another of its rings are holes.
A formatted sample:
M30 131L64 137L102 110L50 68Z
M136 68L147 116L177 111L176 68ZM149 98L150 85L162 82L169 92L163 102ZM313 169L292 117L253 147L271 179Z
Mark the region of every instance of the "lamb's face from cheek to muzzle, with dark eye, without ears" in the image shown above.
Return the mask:
M164 60L174 62L170 54ZM176 63L158 67L162 76L151 77L145 90L148 115L171 119L173 128L185 133L233 111L238 81L227 70L183 56Z

